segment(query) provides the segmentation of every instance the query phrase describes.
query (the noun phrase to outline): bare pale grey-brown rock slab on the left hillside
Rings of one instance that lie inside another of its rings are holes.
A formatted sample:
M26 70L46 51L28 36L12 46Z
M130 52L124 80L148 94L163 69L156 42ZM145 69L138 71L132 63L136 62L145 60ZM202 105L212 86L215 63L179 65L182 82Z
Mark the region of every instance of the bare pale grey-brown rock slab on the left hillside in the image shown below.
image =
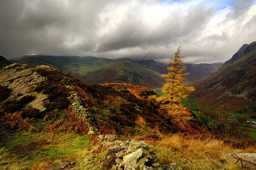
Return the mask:
M48 96L35 92L35 87L45 82L45 78L36 73L32 66L14 63L0 70L0 86L7 87L11 90L8 99L20 99L26 95L35 96L28 106L43 112L46 108L44 103Z

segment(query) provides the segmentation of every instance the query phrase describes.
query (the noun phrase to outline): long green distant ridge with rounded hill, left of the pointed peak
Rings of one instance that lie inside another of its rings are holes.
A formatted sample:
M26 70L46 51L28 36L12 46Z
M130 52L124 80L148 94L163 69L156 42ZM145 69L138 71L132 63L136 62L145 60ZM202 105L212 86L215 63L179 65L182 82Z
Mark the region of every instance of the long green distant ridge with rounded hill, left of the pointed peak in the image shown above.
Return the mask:
M86 83L131 83L149 88L162 87L165 79L128 59L77 56L24 56L14 62L55 67Z

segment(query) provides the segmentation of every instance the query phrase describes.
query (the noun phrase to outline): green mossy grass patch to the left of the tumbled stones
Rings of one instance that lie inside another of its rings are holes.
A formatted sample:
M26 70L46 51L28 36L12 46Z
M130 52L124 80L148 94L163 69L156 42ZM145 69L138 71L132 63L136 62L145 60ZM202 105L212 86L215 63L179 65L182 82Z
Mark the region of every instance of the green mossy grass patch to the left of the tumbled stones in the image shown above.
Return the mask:
M1 169L48 169L60 161L78 166L92 143L79 134L22 133L0 146Z

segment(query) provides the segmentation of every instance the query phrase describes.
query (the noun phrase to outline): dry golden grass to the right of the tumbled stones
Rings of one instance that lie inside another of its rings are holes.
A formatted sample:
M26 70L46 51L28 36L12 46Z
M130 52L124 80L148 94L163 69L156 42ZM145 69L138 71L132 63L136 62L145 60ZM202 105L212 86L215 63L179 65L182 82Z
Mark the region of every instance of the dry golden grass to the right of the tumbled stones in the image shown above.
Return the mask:
M229 164L225 160L225 155L230 152L256 152L255 146L245 149L233 148L221 140L209 137L183 136L179 134L163 137L160 141L146 141L152 145L160 157L160 163L177 163L182 169L240 169L240 164ZM219 158L209 155L213 164L205 155L205 152L216 154ZM186 160L182 158L186 157ZM224 162L223 162L224 160Z

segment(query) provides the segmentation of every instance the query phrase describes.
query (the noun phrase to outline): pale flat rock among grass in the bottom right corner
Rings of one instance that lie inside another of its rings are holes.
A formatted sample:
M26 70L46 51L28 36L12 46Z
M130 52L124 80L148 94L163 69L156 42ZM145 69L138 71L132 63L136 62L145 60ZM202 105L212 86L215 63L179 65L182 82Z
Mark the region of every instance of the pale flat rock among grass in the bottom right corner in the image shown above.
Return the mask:
M234 158L235 157L235 158ZM243 160L247 160L248 162L254 163L256 164L256 154L255 153L229 153L226 155L226 160L229 163L236 163L238 159L236 158L241 158ZM243 165L245 165L245 167L249 167L249 168L255 168L256 169L256 165L251 164L243 161Z

